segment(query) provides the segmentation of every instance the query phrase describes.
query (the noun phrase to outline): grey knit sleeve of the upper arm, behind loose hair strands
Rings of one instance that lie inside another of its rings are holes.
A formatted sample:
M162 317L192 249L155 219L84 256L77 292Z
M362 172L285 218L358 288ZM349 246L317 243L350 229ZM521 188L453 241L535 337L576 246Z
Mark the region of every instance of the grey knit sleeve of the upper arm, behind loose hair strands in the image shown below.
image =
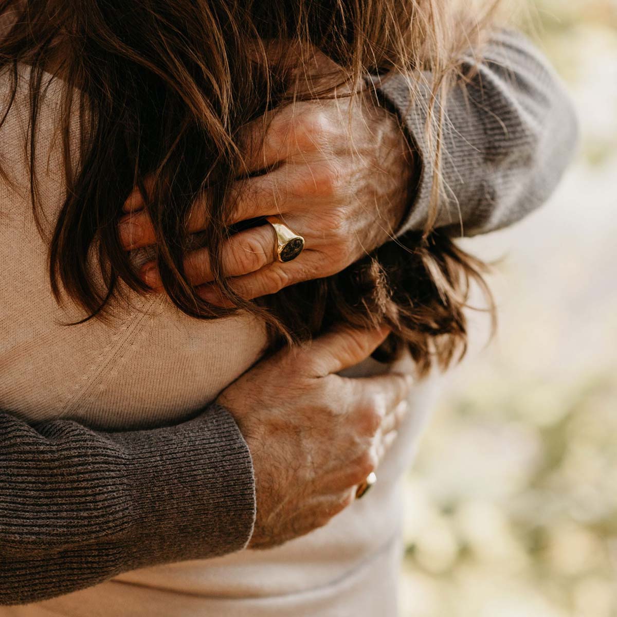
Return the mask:
M513 31L495 33L481 62L461 59L469 83L445 104L442 139L444 193L436 227L473 236L515 223L541 205L576 151L578 123L565 89L546 60ZM433 188L426 138L430 73L410 104L405 77L372 78L384 104L402 119L421 162L415 198L399 230L423 230Z

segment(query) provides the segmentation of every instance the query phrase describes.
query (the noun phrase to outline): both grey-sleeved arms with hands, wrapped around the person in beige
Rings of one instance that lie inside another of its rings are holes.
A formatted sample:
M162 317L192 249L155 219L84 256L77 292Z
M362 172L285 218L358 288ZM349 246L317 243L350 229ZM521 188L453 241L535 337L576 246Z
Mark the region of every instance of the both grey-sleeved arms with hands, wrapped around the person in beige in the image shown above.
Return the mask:
M376 84L389 110L367 97L352 126L354 157L347 118L328 101L274 116L255 166L278 166L247 180L254 190L243 194L255 199L239 201L236 218L281 213L307 249L280 265L268 226L233 236L223 265L241 296L328 276L392 234L423 228L432 181L426 106L408 106L402 81ZM465 94L455 89L445 112L449 193L437 226L453 234L461 225L466 234L492 231L536 208L576 143L560 83L510 32L495 34ZM120 237L127 249L154 241L142 206L135 195L126 203ZM189 225L200 229L199 220ZM207 249L188 255L186 272L205 299L220 301ZM143 275L157 288L155 270L146 265ZM70 420L29 426L0 413L0 603L67 593L141 566L268 547L325 524L378 464L404 413L408 379L336 375L368 357L386 334L341 329L307 350L280 352L178 426L105 433ZM284 391L277 391L280 381ZM294 436L306 418L315 443L300 449ZM265 442L268 426L277 426L275 443ZM326 435L344 453L336 469L328 468ZM304 463L302 481L312 491L296 496L298 479L281 473L289 460ZM273 516L283 496L290 509Z

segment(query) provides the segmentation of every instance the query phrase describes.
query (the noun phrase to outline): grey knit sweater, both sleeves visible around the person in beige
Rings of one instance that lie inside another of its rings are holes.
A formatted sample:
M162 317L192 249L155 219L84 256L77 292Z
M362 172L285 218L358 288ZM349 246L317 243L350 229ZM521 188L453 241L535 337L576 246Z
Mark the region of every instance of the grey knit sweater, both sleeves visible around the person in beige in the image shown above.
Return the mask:
M421 160L401 233L418 230L433 178L424 155L428 98L408 106L399 77L381 80L379 93ZM437 224L456 234L495 230L542 204L576 146L568 96L515 33L494 36L466 94L457 89L446 111L448 197ZM123 433L68 420L29 426L0 413L0 603L242 549L254 517L251 455L222 407L178 426Z

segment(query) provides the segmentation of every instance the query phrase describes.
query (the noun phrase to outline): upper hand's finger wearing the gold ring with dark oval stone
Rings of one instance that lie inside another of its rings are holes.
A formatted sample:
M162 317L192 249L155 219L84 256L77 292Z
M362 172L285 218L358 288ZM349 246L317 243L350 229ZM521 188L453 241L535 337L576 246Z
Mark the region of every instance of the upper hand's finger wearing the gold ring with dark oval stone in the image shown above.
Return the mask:
M276 236L270 225L261 225L231 236L222 252L223 276L238 277L255 272L275 260ZM199 249L190 252L184 259L184 274L189 283L198 286L214 280L210 251ZM146 263L140 276L152 289L162 286L159 271L154 262ZM215 303L213 303L215 304Z

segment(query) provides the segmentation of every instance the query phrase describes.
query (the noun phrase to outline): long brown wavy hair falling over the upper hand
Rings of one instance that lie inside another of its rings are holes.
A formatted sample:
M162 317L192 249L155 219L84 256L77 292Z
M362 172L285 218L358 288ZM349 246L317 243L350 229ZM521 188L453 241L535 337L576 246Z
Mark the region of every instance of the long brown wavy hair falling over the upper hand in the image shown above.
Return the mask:
M49 239L56 299L64 290L83 308L85 321L106 316L120 280L139 294L147 292L120 244L117 223L133 186L144 191L144 179L151 177L146 207L160 275L184 313L213 319L249 310L267 322L272 348L307 340L336 321L387 323L393 334L382 358L407 346L420 373L434 362L447 366L465 349L470 281L482 284L483 265L432 229L442 195L442 110L453 82L465 77L458 74L460 54L479 49L489 4L494 2L465 3L461 9L449 0L1 1L0 18L7 25L0 68L12 78L13 93L18 63L32 67L28 139L35 217L34 136L44 72L52 70L67 85L59 127L67 194ZM289 41L294 53L273 62L267 50L273 40ZM337 275L247 302L226 284L220 265L222 244L233 233L226 225L230 188L246 176L240 131L275 106L332 96L340 79L318 91L289 89L289 68L302 50L315 48L343 68L352 85L347 96L357 96L368 73L408 75L412 97L422 76L433 76L426 130L433 136L436 176L429 224ZM70 147L76 114L78 164ZM207 304L184 275L189 246L184 222L197 201L207 210L202 236L213 272L236 309ZM93 267L104 280L102 291Z

